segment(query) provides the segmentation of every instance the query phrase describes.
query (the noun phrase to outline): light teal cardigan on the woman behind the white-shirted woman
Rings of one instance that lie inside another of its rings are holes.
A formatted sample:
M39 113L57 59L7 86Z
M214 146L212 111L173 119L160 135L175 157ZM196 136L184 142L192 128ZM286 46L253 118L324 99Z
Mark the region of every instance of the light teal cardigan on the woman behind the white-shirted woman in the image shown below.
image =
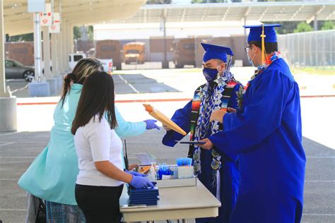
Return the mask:
M82 88L83 85L72 85L63 107L61 102L57 104L54 110L54 126L47 147L34 159L18 181L21 188L38 198L66 205L77 204L74 187L79 169L71 124ZM124 121L116 107L115 115L118 123L115 131L120 137L140 135L146 131L145 122Z

